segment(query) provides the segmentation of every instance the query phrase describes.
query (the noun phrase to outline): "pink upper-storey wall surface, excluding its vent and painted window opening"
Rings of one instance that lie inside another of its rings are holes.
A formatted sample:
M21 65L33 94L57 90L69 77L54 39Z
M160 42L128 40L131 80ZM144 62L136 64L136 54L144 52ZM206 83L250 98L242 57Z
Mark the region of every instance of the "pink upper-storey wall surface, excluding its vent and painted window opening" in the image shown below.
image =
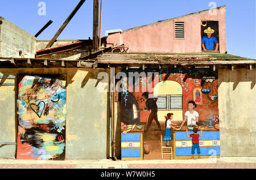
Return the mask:
M201 21L218 21L220 53L226 52L226 7L216 10L216 15L201 11L180 18L150 24L144 27L111 34L107 42L125 44L128 52L201 53ZM175 22L184 22L185 39L175 39ZM207 26L208 27L208 26ZM205 27L205 28L207 28ZM119 36L119 38L117 37Z

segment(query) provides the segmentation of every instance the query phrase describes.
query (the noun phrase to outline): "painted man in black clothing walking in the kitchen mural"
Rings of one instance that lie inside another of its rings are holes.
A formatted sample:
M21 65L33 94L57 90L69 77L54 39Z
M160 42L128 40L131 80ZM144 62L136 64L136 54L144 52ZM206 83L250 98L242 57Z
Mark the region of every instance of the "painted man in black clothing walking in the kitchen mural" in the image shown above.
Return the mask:
M158 129L155 129L155 131L162 131L161 125L158 121L158 106L156 105L156 101L158 101L158 98L156 97L148 98L148 92L143 93L142 97L146 99L146 107L143 108L142 110L150 111L150 114L148 115L148 118L147 118L147 125L146 125L146 128L144 129L144 132L147 132L148 129L151 127L151 123L153 119L158 125Z

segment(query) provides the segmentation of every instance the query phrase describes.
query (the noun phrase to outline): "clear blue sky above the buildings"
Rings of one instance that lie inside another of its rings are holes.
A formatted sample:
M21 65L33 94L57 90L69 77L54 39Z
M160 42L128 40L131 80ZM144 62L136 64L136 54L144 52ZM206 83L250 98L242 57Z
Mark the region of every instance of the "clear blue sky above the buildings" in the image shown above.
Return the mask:
M46 3L46 15L38 15L39 2ZM0 0L0 16L35 35L53 20L38 40L55 35L80 0ZM226 33L228 53L256 58L255 0L212 0L217 7L226 5ZM207 0L103 0L102 31L142 26L158 20L175 18L192 12L210 9ZM92 38L93 0L87 0L58 39Z

